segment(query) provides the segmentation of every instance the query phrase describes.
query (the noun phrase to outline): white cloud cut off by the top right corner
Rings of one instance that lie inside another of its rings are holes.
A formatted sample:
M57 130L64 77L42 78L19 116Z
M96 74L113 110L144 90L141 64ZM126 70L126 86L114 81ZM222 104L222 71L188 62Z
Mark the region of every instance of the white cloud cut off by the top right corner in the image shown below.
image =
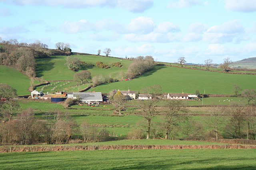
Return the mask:
M224 0L229 11L255 12L256 0Z

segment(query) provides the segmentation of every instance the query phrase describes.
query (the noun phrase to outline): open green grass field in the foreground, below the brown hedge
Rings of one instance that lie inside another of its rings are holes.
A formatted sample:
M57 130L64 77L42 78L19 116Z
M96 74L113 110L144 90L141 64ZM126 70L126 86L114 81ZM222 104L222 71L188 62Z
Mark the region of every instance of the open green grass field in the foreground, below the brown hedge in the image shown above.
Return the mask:
M0 153L2 170L254 170L256 149L90 150Z

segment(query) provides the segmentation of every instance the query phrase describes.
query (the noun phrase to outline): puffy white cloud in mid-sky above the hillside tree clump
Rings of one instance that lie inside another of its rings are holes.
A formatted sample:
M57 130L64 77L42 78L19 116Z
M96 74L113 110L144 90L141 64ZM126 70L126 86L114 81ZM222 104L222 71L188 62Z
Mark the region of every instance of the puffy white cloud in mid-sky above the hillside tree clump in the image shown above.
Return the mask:
M131 23L127 26L130 33L146 34L154 30L155 23L152 18L138 17L132 19Z

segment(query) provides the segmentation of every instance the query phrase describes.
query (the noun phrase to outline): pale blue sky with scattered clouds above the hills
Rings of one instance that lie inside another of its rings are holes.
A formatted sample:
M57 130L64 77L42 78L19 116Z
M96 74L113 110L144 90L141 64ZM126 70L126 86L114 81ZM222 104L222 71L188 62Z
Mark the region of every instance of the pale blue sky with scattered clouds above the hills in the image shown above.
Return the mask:
M256 0L0 0L0 37L219 64L256 57Z

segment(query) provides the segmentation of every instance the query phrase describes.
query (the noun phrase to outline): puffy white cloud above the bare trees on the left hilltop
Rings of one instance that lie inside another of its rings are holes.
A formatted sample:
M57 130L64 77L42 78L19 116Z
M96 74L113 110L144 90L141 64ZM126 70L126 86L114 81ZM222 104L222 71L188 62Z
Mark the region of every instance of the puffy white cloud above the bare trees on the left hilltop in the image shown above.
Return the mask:
M77 22L64 21L60 29L64 33L80 33L94 29L94 25L87 20L80 20Z

